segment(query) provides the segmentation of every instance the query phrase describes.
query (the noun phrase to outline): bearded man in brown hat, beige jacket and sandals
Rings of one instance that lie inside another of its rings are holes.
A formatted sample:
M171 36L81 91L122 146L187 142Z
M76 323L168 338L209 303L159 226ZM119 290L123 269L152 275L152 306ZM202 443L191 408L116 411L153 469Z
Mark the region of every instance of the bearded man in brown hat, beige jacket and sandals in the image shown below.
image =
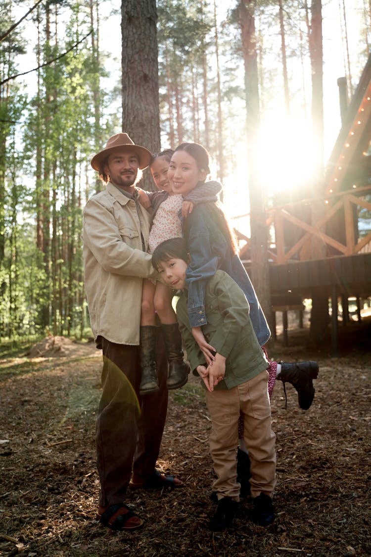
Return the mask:
M103 351L96 422L101 482L98 519L115 530L143 521L124 503L126 489L174 488L182 482L155 469L167 411L167 361L158 339L160 390L140 399L139 331L142 279L156 276L147 253L150 216L135 184L151 153L126 133L113 135L91 165L106 183L83 211L85 290L91 328ZM131 478L132 475L132 478Z

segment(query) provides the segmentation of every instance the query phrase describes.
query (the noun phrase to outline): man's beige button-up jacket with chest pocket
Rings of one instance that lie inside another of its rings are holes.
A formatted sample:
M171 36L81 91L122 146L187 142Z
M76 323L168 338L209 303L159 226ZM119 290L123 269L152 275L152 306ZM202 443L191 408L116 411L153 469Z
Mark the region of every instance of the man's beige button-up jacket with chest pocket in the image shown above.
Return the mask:
M142 278L156 276L147 249L150 215L111 183L83 211L85 291L95 340L139 344Z

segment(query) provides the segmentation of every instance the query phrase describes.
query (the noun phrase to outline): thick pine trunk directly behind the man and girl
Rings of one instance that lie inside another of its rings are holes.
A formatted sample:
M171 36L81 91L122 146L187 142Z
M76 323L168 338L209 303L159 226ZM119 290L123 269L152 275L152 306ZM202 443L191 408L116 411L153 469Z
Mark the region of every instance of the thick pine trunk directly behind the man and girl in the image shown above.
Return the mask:
M122 130L134 143L160 150L156 0L122 0ZM141 187L154 189L147 172Z

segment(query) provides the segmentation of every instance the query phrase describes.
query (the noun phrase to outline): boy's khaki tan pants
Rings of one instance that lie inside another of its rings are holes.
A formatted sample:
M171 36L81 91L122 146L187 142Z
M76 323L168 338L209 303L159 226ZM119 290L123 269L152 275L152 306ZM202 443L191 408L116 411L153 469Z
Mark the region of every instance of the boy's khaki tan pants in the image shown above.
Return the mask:
M268 377L268 372L264 370L233 389L206 392L212 424L210 453L217 476L213 488L218 499L231 497L239 501L236 448L240 410L244 414L244 439L251 462L251 496L257 497L262 492L270 497L273 495L276 454L275 434L271 429Z

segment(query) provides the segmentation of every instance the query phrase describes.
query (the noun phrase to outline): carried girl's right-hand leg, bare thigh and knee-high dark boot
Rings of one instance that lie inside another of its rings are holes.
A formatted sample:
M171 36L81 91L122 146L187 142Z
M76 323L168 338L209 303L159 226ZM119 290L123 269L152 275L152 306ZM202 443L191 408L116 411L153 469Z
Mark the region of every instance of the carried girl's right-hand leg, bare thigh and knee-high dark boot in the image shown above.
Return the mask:
M186 384L190 365L183 359L182 338L179 332L175 311L171 305L172 291L157 282L155 293L155 308L160 317L162 337L164 338L167 359L169 360L169 375L167 388L179 389Z

